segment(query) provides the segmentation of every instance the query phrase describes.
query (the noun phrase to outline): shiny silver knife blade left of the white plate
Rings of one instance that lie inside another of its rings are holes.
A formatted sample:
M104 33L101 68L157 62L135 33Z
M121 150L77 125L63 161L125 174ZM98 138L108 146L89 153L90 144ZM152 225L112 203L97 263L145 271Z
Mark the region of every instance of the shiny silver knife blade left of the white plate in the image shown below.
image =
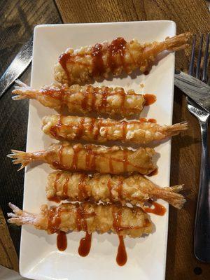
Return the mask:
M29 41L22 46L18 55L15 56L13 62L8 66L8 69L3 73L0 79L0 98L3 93L6 92L8 87L22 74L27 66L29 66L32 60L33 52L33 36L29 38Z

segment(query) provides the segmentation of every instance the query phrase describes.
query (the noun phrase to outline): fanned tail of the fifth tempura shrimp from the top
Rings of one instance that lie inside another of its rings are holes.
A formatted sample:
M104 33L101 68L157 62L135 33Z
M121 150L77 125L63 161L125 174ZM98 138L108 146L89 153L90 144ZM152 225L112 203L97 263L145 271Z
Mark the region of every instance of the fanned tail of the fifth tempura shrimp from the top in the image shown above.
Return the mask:
M169 202L172 206L181 209L186 199L179 192L183 190L183 185L177 185L167 188L158 188L153 191L153 195L156 198L160 198Z

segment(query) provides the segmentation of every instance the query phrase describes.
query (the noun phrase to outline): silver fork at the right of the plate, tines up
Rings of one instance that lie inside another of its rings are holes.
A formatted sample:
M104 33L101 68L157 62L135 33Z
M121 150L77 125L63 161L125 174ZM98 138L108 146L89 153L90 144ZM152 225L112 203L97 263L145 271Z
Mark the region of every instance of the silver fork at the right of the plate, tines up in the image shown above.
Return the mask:
M191 52L190 66L188 73L196 76L200 80L207 83L207 69L209 57L209 34L207 35L207 43L204 52L204 66L201 73L201 59L202 59L202 35L200 38L200 47L197 57L197 66L194 71L195 60L195 41L193 38L193 47ZM210 98L210 97L209 97ZM200 167L200 187L197 198L197 209L195 216L195 232L194 232L194 253L198 260L202 262L210 262L210 165L208 153L208 123L209 111L202 109L195 104L192 99L188 99L188 110L199 120L202 138L202 155Z

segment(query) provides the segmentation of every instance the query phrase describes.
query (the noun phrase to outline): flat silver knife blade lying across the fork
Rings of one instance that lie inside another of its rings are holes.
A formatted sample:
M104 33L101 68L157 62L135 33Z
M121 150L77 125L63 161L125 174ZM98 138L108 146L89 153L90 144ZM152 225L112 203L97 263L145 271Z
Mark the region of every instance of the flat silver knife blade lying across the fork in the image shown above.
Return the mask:
M210 113L210 86L182 71L175 73L174 84L188 97Z

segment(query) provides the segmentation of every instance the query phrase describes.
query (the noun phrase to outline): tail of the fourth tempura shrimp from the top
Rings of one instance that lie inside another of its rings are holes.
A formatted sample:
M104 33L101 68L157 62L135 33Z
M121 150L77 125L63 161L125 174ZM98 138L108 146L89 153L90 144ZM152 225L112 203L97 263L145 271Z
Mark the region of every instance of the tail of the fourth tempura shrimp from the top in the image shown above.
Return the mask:
M13 164L18 165L21 164L20 171L27 165L29 165L30 162L34 162L36 160L42 160L43 159L43 152L36 152L36 153L26 153L22 151L17 150L11 150L12 153L7 155L8 158L13 158Z

